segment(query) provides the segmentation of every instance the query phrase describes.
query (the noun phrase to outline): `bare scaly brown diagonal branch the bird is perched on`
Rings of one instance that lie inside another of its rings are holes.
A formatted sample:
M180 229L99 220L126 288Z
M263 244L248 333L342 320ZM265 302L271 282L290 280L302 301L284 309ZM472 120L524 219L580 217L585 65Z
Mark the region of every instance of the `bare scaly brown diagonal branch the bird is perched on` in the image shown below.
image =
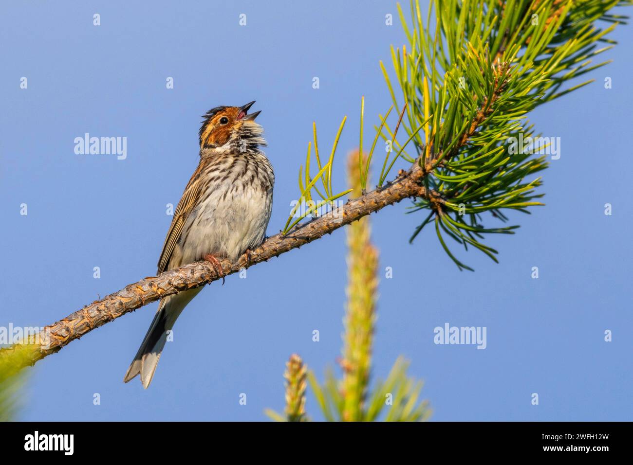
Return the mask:
M248 268L297 249L387 205L407 197L422 197L425 195L425 188L421 183L424 176L425 171L420 168L419 163L414 163L409 171L399 174L385 187L350 200L320 218L315 218L303 225L299 224L285 236L279 233L269 237L260 247L251 251L250 263L246 263L246 256L242 256L235 263L230 263L226 259L220 260L222 271L225 276L237 273L242 268ZM15 344L7 349L0 349L0 364L8 364L13 369L33 365L38 360L58 352L73 340L126 313L158 301L167 295L200 287L219 278L213 266L206 261L187 264L177 270L144 278L46 326L37 344Z

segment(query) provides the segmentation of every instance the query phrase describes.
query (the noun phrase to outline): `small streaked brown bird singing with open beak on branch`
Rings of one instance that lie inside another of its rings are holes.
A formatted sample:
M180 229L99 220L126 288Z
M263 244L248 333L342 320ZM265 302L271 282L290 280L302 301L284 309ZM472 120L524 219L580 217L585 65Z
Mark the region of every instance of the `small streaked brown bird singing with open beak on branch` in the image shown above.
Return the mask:
M203 116L199 132L200 163L173 214L158 273L206 259L218 274L218 258L235 261L265 239L270 220L275 175L260 146L263 128L255 122L261 112L244 106L218 106ZM123 381L141 375L149 386L165 347L166 332L201 287L168 295L158 311Z

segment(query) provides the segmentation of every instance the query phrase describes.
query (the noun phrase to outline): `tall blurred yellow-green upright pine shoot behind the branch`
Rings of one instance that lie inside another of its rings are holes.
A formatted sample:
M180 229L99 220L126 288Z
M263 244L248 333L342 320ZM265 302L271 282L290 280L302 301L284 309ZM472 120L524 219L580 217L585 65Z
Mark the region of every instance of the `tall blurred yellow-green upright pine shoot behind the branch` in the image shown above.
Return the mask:
M367 154L360 149L349 154L348 180L354 195L361 195L367 182L369 171L363 170L367 159ZM313 371L309 371L308 380L316 402L327 421L378 421L385 410L385 421L424 421L431 411L429 402L419 400L423 383L406 375L408 362L403 357L398 357L385 381L375 381L370 389L377 319L378 249L370 239L369 218L350 225L347 233L348 302L339 359L342 379L335 378L334 372L328 369L325 382L320 385ZM280 414L266 413L272 419L284 421Z

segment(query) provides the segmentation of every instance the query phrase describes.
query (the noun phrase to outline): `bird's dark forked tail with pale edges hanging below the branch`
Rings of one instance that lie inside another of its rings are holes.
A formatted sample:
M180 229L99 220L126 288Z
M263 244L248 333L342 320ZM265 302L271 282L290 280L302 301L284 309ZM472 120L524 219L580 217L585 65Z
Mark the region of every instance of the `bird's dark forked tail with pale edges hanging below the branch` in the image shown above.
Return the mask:
M202 288L197 287L185 290L179 294L169 295L160 301L158 311L154 316L149 330L141 342L139 351L136 352L130 368L127 369L123 382L127 383L136 375L141 375L141 383L147 389L149 383L152 382L156 365L160 360L160 355L165 347L168 330L173 328L173 324L184 310L185 306L196 297Z

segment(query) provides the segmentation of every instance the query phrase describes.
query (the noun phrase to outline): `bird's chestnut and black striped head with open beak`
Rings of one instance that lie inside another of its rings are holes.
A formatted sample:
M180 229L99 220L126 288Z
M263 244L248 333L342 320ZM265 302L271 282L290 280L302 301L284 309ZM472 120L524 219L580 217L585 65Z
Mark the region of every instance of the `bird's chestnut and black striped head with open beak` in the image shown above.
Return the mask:
M265 145L263 128L255 122L261 112L248 113L255 101L243 106L216 106L203 116L200 127L200 149L237 148L244 151Z

